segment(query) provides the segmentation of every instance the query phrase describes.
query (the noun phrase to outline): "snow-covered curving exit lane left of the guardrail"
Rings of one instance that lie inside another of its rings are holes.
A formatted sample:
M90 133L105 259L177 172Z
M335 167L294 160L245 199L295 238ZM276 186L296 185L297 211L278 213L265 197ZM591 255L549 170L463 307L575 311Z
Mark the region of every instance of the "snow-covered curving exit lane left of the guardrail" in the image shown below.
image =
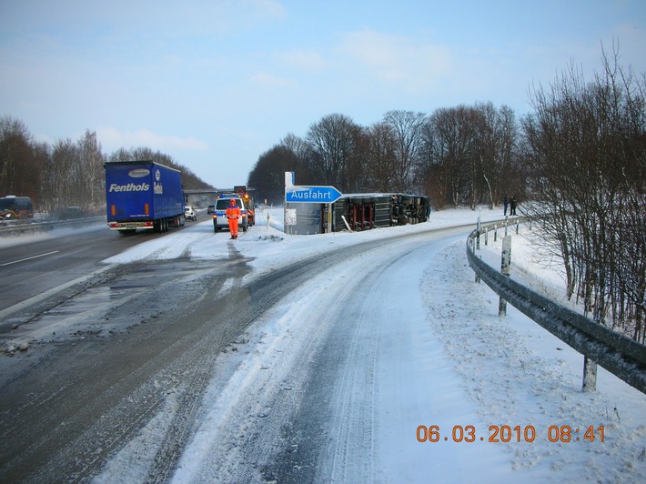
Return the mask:
M470 412L420 284L447 237L463 234L420 233L348 257L257 321L236 378L210 393L177 481L420 482L468 478L464 459L504 476L491 468L504 461L495 446L433 449L416 438L419 425Z

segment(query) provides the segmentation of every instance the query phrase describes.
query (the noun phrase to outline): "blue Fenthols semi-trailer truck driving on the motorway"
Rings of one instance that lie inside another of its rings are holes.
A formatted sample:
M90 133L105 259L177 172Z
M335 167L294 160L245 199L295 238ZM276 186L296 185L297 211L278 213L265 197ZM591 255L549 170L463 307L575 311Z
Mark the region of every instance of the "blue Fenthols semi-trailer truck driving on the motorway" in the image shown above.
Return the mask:
M185 224L181 172L151 160L104 166L108 227L132 234L137 228L166 232Z

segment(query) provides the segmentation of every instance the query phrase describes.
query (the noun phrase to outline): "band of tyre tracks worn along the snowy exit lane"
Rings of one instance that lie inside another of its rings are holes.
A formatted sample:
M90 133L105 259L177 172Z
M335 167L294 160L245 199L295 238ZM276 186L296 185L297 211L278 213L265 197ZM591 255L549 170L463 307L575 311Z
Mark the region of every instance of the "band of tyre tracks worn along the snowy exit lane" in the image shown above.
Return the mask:
M375 378L379 352L389 345L379 335L401 316L389 313L384 294L401 255L434 237L446 232L344 249L275 272L272 287L290 288L259 315L237 362L220 362L237 371L207 390L210 414L175 481L379 477Z

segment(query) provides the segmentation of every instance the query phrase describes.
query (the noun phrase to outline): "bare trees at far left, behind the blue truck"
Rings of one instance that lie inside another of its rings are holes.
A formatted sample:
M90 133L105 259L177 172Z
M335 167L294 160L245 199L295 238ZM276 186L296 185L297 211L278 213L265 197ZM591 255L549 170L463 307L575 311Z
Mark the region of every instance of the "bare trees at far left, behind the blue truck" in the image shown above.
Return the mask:
M78 140L37 142L25 124L0 117L0 195L31 197L35 209L58 217L67 207L88 215L106 211L104 163L151 159L182 172L185 188L213 188L172 156L148 147L120 148L106 155L96 132L86 130Z

